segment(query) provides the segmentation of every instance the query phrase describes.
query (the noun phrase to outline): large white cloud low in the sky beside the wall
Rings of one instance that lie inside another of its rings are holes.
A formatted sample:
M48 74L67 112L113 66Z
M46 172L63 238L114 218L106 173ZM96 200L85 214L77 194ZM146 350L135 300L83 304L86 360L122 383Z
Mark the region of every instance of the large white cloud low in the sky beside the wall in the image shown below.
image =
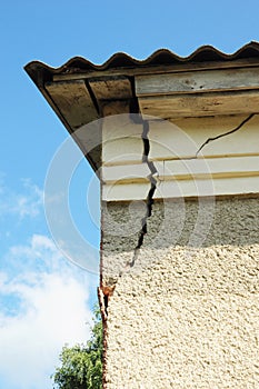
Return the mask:
M14 278L0 273L1 295L19 299L16 315L0 315L0 375L19 389L50 389L62 346L89 337L88 282L46 236L34 235L8 256L23 270Z

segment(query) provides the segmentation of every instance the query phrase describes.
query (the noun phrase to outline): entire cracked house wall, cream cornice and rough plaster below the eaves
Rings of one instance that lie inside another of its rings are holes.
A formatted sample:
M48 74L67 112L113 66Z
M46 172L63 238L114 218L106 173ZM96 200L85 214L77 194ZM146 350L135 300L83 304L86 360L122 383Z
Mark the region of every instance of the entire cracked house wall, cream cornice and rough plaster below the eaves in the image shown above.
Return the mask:
M132 177L120 181L107 174L102 187L104 196L112 193L109 201L102 199L103 388L253 388L259 383L253 163L259 118L238 114L175 123L149 121L132 130L127 120L107 126L114 139L103 147L103 164ZM197 169L197 150L205 142L208 177L201 171L193 179L191 170L190 177L182 173L178 179L173 169L181 162ZM197 164L188 164L190 158ZM157 169L161 166L163 170ZM170 177L165 174L167 166ZM202 192L185 196L186 186L192 182L203 190L207 179L216 189L235 188L239 197L215 201ZM182 192L173 196L177 187ZM242 192L247 188L253 192ZM116 196L112 200L112 190L121 201Z

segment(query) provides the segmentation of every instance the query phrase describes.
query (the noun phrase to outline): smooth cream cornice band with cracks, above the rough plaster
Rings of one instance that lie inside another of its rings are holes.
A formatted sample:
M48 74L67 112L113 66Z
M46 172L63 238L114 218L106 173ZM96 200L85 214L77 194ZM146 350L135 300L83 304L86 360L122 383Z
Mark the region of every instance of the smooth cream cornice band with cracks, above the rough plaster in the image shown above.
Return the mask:
M257 193L258 126L258 114L149 120L147 147L142 123L110 118L103 126L102 199L147 199L150 167L156 199Z

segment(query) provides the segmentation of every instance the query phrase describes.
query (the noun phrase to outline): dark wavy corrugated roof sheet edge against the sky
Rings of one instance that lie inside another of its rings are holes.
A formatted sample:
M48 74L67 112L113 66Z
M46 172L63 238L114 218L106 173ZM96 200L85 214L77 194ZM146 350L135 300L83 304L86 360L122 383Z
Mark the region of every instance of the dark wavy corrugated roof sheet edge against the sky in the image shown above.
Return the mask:
M40 61L31 61L26 64L24 70L28 74L39 83L39 72L44 74L44 81L52 74L60 73L77 73L91 70L108 70L113 68L132 68L132 67L148 67L148 66L161 66L161 64L179 64L187 62L209 62L209 61L222 61L222 60L237 60L243 58L258 58L259 57L259 42L251 41L245 44L239 50L231 54L227 54L212 46L202 46L195 50L188 57L179 57L168 49L159 49L151 56L143 60L138 60L130 57L127 53L118 52L111 56L102 64L94 64L82 57L73 57L59 68L52 68Z

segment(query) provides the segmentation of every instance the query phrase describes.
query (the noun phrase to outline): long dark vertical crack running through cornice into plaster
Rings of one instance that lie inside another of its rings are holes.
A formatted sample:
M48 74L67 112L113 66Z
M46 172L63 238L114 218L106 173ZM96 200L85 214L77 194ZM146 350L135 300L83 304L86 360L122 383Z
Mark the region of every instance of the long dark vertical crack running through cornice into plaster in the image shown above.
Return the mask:
M153 194L155 191L157 189L157 179L156 179L156 174L158 173L157 168L155 167L153 162L149 160L149 152L150 152L150 142L149 142L149 138L148 138L148 133L149 133L149 122L147 120L143 120L143 131L142 131L142 142L143 142L143 154L142 154L142 162L147 163L149 170L150 170L150 174L148 176L148 179L150 181L150 189L146 199L146 215L145 217L141 219L141 230L139 231L139 237L138 237L138 243L135 248L135 253L133 253L133 258L130 262L128 262L127 265L129 267L133 267L135 262L138 258L139 255L139 250L141 248L141 246L143 245L143 238L146 236L146 233L148 232L148 218L150 218L150 216L152 215L152 205L153 205Z

